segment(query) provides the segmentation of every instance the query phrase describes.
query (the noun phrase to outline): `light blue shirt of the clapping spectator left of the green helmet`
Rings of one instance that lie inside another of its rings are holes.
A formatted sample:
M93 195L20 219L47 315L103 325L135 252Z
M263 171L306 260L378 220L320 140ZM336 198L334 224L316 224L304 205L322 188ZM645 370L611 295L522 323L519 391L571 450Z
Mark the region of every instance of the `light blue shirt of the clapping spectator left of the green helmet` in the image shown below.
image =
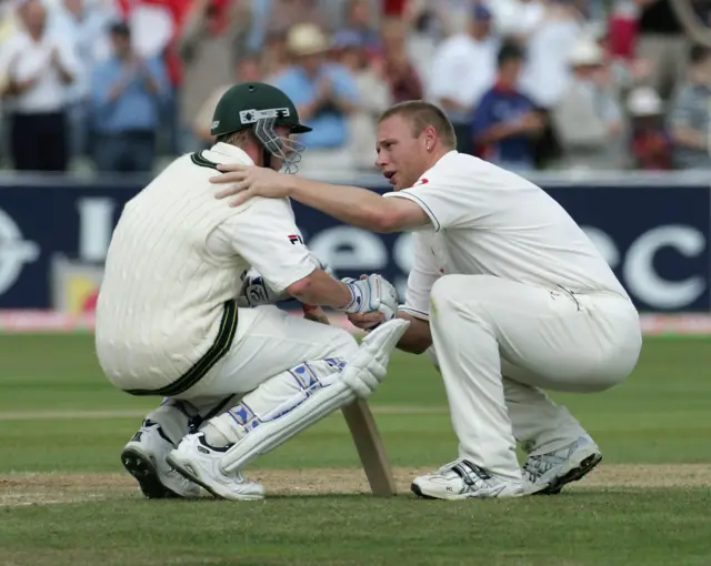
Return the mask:
M140 69L144 69L141 71ZM168 93L168 73L162 59L152 58L142 67L134 68L131 78L119 97L109 95L116 84L124 80L127 63L111 58L94 67L91 77L91 102L93 123L101 133L154 130L160 123L160 105ZM152 77L159 92L150 91L142 72Z

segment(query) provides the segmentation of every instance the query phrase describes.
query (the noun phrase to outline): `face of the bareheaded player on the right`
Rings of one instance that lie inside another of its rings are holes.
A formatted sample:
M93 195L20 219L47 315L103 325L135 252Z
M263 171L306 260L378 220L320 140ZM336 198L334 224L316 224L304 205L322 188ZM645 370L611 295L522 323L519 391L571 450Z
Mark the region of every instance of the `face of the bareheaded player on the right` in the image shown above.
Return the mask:
M412 124L399 114L378 125L375 165L395 191L408 189L427 171L424 132L413 135Z

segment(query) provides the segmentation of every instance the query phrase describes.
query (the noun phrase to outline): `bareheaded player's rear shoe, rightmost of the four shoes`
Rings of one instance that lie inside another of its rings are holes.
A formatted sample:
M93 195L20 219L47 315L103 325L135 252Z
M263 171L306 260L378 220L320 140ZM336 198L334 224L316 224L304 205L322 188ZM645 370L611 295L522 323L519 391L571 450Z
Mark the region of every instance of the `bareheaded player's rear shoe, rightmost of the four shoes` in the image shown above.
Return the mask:
M525 492L529 495L560 493L565 484L585 476L601 459L600 448L587 435L557 451L529 456L523 464Z

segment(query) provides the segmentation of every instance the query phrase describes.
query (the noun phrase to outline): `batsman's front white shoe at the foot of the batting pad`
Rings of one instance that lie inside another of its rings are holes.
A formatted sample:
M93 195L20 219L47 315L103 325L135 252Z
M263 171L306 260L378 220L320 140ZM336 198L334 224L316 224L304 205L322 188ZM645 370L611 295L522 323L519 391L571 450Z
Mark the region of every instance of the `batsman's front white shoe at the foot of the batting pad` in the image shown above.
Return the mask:
M224 474L220 467L222 456L229 449L210 446L204 433L187 435L168 455L168 463L182 476L204 487L216 497L233 502L264 498L264 487L250 482L241 472Z

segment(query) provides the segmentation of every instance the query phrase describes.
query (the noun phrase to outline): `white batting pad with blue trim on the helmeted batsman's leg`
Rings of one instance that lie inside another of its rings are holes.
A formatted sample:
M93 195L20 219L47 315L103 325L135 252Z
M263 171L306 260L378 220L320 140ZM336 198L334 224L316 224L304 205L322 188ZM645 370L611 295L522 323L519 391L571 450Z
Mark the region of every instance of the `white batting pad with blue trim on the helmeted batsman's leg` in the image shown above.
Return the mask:
M388 365L390 353L408 327L407 321L390 321L363 341L356 356L368 353L373 362ZM349 364L341 358L307 362L268 380L219 417L223 428L231 418L231 434L237 442L222 456L226 474L241 469L260 454L266 454L299 432L318 423L334 411L356 401L356 392L347 381L362 380L369 364ZM351 375L348 375L348 374ZM271 408L269 408L271 407ZM216 420L217 421L217 420ZM217 426L217 422L213 423ZM236 434L237 433L237 434ZM238 436L238 437L236 437Z

